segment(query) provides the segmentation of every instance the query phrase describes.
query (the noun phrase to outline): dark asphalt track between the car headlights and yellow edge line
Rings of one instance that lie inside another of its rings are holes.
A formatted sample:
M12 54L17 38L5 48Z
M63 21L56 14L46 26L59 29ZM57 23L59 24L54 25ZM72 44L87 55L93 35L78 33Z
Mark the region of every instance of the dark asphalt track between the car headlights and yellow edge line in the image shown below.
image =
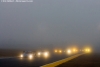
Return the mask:
M45 57L34 57L33 59L19 58L19 57L0 58L0 67L40 67L42 65L67 58L69 56L71 55L52 54L48 58Z

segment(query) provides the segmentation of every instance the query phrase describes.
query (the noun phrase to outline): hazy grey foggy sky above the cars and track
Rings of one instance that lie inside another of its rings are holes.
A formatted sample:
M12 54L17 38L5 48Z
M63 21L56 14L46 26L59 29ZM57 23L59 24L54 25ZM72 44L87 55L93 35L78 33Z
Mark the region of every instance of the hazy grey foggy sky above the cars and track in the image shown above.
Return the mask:
M100 40L100 0L0 2L0 48L66 46Z

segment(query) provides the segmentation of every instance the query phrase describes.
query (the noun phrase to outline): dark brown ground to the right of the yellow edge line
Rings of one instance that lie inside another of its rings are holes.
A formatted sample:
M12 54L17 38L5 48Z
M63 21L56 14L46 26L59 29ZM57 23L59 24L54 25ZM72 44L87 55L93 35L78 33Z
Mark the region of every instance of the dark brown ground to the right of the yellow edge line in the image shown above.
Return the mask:
M100 54L84 54L57 67L100 67Z

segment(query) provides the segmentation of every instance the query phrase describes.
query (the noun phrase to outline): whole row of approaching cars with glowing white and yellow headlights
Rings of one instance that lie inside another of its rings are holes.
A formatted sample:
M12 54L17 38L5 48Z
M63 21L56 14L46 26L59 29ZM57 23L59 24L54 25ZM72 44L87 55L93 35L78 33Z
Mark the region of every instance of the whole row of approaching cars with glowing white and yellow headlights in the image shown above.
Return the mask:
M86 49L67 49L67 50L61 50L61 49L55 49L54 53L67 53L67 54L73 54L73 53L78 53L78 52L85 52L85 53L90 53L91 49L90 48L86 48ZM32 52L32 51L23 51L20 55L21 58L29 58L32 59L34 57L40 57L43 56L45 58L50 56L50 52L49 51L39 51L39 52Z

